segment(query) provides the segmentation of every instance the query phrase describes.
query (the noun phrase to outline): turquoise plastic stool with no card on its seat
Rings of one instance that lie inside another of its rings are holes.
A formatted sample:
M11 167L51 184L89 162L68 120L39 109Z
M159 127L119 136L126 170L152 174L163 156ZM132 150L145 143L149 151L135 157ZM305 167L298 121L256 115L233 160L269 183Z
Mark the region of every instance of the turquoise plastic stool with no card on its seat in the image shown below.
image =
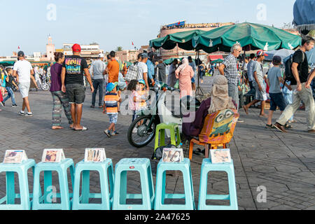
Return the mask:
M139 172L142 194L127 194L127 172ZM126 204L127 199L141 199L142 204ZM123 159L115 167L113 210L152 210L154 187L148 159Z

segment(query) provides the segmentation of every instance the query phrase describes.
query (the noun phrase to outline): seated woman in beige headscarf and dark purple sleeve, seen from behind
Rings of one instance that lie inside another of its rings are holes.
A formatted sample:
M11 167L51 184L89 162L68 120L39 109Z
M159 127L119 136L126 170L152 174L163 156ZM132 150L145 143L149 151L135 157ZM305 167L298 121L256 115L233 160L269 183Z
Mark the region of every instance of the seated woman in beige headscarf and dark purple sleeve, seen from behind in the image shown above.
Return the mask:
M200 108L195 112L195 120L190 122L194 112L183 116L183 134L188 140L193 137L199 137L204 126L204 119L208 114L236 108L237 104L228 94L228 79L225 76L214 76L213 86L209 94L202 98Z

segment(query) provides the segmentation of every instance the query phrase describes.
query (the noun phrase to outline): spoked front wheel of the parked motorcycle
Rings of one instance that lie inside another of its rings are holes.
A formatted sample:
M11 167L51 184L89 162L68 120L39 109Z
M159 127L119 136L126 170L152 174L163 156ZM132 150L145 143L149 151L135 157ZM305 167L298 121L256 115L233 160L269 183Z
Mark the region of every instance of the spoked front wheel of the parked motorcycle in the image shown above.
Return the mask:
M132 146L141 148L150 144L150 142L154 139L158 121L153 120L150 125L151 119L152 116L141 116L134 120L134 122L130 125L127 137ZM151 127L149 127L149 125Z

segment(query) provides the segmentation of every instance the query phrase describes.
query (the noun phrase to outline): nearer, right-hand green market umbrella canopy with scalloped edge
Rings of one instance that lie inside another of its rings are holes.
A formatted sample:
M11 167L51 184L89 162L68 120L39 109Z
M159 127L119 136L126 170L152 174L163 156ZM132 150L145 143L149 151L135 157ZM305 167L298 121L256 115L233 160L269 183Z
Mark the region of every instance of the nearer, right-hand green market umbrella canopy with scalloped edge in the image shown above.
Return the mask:
M244 50L293 50L301 44L301 38L276 27L244 22L212 29L193 39L196 50L208 53L230 52L235 43L241 44Z

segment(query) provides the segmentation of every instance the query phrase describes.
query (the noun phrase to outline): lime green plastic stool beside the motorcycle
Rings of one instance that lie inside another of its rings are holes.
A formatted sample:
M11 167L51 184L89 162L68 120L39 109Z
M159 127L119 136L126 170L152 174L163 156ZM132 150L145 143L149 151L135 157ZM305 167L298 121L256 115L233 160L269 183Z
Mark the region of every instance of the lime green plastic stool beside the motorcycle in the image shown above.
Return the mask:
M155 147L165 146L165 130L171 132L171 144L174 146L179 146L181 144L181 134L179 133L179 125L176 123L165 124L162 123L156 127L155 131ZM160 138L160 145L159 145Z

